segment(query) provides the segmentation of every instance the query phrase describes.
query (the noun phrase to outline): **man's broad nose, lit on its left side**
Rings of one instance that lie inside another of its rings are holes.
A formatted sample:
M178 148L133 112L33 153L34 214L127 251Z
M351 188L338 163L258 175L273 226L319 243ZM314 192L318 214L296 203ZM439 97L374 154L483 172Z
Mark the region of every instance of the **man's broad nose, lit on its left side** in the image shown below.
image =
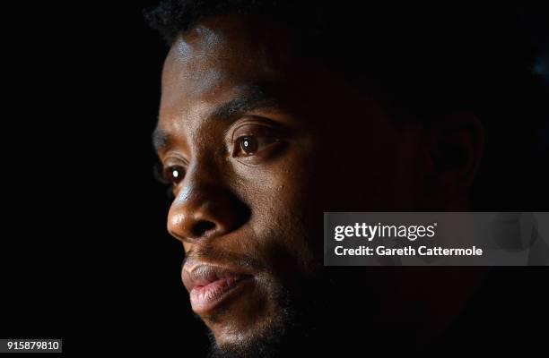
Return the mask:
M219 178L187 172L168 214L172 236L192 242L231 233L249 217L247 206Z

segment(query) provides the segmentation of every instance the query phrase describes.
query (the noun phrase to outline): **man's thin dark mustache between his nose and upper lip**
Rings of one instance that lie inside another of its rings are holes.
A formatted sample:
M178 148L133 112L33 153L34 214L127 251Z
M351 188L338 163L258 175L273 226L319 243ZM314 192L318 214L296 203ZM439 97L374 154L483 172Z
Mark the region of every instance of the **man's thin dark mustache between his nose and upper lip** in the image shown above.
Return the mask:
M265 265L260 260L257 260L251 256L234 253L231 251L222 251L209 246L189 250L183 257L181 268L185 266L187 260L205 260L206 262L217 262L220 264L227 263L230 266L250 268L254 271L266 269Z

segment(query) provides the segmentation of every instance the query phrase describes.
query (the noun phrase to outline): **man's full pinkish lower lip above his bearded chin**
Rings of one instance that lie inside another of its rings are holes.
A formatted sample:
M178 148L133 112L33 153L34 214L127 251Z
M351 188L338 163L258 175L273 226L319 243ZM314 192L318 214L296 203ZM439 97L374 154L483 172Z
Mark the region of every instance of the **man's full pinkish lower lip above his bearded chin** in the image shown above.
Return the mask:
M237 287L248 281L249 276L224 277L205 286L195 286L190 292L190 302L193 311L205 313L213 310L232 294Z

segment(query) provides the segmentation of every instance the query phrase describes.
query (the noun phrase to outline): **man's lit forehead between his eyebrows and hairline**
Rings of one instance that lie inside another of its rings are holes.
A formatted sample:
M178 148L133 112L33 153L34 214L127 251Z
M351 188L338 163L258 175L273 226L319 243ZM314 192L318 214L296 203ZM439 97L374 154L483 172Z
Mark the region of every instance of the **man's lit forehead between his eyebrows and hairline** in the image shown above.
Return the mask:
M220 98L233 86L280 81L298 71L294 38L282 24L253 17L200 21L170 48L162 72L162 107Z

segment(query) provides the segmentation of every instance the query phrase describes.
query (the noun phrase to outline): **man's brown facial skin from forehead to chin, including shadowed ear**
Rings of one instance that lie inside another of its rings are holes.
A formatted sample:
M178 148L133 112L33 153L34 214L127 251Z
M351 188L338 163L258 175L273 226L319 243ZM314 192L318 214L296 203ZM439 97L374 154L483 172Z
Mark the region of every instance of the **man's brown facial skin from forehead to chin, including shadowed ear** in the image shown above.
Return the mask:
M180 35L164 64L155 144L174 184L168 231L186 252L184 282L200 263L252 277L193 305L221 346L259 337L280 319L280 293L318 277L323 211L469 208L474 115L396 124L299 47L282 24L214 17Z

